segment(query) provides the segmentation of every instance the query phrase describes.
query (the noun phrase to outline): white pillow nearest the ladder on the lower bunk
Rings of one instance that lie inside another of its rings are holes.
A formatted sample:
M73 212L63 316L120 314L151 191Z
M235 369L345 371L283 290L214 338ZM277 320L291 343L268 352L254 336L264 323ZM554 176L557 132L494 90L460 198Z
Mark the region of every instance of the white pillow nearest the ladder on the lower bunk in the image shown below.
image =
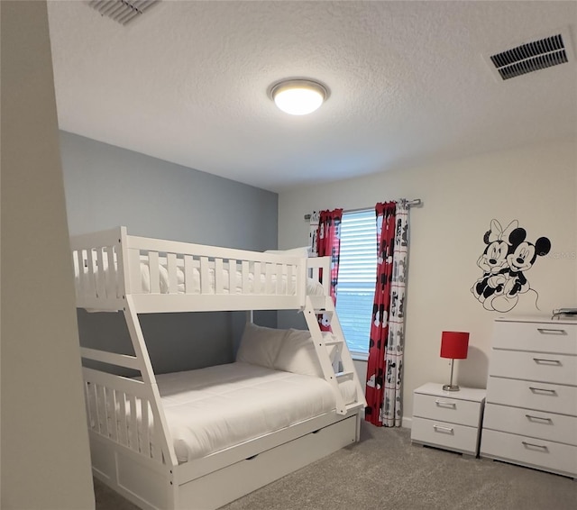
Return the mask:
M325 340L334 338L332 332L323 332L323 336ZM329 350L331 363L335 355L336 346L331 346ZM308 330L290 329L287 332L277 359L274 361L274 368L303 376L325 377Z

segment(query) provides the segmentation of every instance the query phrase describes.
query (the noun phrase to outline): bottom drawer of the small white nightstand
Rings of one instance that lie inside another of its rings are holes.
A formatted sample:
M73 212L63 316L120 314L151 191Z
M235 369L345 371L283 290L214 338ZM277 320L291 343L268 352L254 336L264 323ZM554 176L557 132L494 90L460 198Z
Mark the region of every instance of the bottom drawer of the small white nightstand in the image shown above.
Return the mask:
M413 418L411 441L477 455L477 427Z

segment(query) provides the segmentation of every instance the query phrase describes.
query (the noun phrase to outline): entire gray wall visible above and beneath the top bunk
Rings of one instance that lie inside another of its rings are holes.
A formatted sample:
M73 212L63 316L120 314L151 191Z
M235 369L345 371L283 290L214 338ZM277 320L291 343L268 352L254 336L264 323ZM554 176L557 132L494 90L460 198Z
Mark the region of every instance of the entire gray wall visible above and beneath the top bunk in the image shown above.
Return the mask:
M245 250L277 246L278 196L138 152L60 132L71 234L129 234ZM157 373L234 360L243 313L141 316ZM257 314L274 326L276 314ZM83 345L132 352L122 314L78 312Z

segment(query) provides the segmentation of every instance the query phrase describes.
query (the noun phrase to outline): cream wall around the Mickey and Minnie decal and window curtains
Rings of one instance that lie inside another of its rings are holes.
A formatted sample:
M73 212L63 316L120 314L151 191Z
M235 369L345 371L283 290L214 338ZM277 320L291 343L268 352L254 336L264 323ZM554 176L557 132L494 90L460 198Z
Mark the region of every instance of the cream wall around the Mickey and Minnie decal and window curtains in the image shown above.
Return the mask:
M439 358L443 330L471 332L469 358L457 361L456 375L462 385L485 387L492 320L499 314L484 310L471 287L481 277L477 260L491 219L503 226L517 219L528 241L545 236L553 245L527 271L541 312L529 293L509 314L546 316L555 307L577 306L575 141L285 191L279 194L279 248L307 244L303 215L312 210L373 207L398 197L424 203L410 212L403 393L403 414L410 418L413 389L449 378L449 364Z

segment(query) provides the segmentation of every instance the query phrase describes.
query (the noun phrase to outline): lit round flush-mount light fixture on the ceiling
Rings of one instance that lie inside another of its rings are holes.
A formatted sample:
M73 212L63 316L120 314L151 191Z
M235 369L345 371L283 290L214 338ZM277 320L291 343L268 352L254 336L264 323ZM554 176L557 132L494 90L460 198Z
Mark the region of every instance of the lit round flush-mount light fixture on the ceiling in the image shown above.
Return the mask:
M270 89L275 105L291 115L312 114L328 97L328 89L310 79L280 81Z

